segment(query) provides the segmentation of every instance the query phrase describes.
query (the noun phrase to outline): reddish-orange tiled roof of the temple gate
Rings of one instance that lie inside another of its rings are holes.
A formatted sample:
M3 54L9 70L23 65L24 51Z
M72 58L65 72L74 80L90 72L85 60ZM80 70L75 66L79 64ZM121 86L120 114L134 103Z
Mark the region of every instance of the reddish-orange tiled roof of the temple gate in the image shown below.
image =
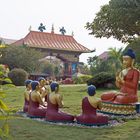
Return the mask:
M65 50L74 52L90 52L90 50L79 44L73 36L55 33L30 31L25 38L20 39L12 45L26 44L29 47L46 48L53 50Z

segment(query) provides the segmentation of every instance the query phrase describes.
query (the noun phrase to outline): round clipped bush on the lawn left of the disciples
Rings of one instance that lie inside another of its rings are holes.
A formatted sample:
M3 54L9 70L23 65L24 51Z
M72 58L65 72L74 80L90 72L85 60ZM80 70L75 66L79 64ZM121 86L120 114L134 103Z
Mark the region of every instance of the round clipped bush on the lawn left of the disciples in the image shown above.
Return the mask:
M14 85L23 86L24 81L28 78L28 73L23 69L15 68L8 73L8 77Z

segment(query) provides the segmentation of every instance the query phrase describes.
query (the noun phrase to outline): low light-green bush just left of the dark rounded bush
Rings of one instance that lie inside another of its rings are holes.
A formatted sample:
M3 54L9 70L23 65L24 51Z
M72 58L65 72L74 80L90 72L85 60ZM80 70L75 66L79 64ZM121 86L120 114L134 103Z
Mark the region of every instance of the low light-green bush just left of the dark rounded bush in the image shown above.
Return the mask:
M75 84L85 84L91 78L92 78L91 75L81 75L78 77L73 77L72 79L73 79Z

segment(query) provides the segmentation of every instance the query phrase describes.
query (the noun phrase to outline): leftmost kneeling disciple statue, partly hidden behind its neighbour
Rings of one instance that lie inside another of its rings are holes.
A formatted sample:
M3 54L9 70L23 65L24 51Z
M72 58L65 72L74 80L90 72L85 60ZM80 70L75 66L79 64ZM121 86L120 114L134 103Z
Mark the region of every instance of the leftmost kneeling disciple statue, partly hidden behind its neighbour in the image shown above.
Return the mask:
M28 112L28 106L29 106L29 94L31 93L31 82L32 80L28 79L25 81L26 89L24 91L24 106L23 106L23 112Z

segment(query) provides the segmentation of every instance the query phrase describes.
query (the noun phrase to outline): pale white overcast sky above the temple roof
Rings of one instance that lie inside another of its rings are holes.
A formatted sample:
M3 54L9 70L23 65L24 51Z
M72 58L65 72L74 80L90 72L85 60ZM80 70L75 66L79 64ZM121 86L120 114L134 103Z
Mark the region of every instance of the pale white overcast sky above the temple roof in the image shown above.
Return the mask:
M101 6L109 0L0 0L0 37L21 39L32 30L38 31L43 23L45 32L54 32L64 26L66 35L74 33L76 41L93 53L80 55L80 62L87 63L88 57L100 55L110 47L125 47L113 38L95 38L84 28L87 22L92 22Z

